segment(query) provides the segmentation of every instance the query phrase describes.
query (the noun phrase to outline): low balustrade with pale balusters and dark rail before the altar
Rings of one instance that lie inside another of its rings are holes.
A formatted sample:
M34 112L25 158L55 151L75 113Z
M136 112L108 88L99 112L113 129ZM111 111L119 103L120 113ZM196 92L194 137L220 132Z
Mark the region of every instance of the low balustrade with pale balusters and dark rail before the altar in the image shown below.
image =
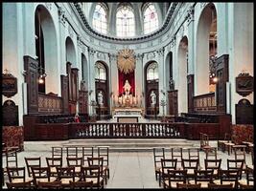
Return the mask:
M182 138L172 123L72 123L69 138Z

